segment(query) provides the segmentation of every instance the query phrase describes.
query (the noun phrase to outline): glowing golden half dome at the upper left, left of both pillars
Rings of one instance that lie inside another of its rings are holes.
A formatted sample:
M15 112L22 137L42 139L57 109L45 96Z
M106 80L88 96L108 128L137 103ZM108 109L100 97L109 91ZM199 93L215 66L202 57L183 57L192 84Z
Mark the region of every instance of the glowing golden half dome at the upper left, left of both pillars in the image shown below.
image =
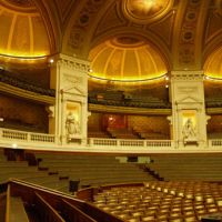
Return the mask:
M31 0L1 0L0 56L36 58L50 54L41 14Z

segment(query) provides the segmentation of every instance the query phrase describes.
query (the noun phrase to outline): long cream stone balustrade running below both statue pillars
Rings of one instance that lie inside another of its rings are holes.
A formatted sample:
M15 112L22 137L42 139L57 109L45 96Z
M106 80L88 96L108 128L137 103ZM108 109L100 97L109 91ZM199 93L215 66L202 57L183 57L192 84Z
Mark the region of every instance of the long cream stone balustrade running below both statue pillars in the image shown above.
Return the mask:
M78 140L79 141L79 140ZM117 152L222 152L222 140L209 140L206 145L188 147L178 149L172 140L129 140L129 139L103 139L88 138L88 142L80 139L80 142L69 142L64 138L57 138L54 134L33 133L0 128L0 147L46 149L46 150L78 150L78 151L117 151Z

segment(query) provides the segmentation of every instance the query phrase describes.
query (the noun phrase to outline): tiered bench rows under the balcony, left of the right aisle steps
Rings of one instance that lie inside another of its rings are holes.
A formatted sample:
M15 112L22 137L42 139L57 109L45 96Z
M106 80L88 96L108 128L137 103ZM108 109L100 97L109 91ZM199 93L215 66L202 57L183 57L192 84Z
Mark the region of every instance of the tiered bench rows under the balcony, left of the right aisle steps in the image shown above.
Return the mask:
M13 159L12 153L9 153L11 159ZM69 193L73 182L79 182L79 188L82 188L95 184L155 180L137 164L120 163L115 157L53 152L32 154L36 155L38 165L29 165L28 161L24 160L8 161L2 152L0 155L1 183L10 178L16 178Z

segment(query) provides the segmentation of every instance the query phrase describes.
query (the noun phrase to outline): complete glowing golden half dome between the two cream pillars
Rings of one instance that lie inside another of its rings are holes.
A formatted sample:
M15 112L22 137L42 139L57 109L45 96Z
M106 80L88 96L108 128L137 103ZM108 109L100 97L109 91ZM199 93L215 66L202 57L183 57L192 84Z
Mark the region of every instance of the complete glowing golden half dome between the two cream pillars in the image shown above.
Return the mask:
M168 72L160 52L139 37L107 40L91 50L89 60L90 75L105 80L149 80Z

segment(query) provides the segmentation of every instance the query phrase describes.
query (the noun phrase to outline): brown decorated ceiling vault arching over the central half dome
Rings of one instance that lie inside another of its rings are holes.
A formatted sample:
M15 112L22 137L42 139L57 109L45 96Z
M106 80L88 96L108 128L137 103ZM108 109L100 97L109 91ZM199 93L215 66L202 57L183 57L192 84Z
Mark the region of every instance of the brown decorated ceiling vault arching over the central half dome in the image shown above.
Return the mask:
M141 8L133 8L135 4ZM222 30L222 1L148 0L150 4L159 3L157 11L145 11L143 2L144 0L82 1L65 30L63 52L88 58L90 50L109 39L123 34L134 38L138 34L138 38L144 37L149 46L154 46L153 49L163 59L168 71L203 69L204 49L210 46L211 50L208 49L204 54L208 58L208 52L213 51L216 44L211 42ZM165 11L160 7L161 2L165 3ZM127 3L131 6L127 8ZM161 10L162 14L158 14Z

